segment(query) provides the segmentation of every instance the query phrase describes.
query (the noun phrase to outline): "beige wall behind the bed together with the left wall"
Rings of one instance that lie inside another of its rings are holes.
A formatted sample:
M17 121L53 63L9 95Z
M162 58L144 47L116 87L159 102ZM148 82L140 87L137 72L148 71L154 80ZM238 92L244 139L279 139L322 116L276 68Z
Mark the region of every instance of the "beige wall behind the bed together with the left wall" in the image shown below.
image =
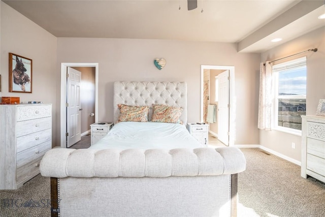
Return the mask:
M23 33L23 34L22 34ZM8 92L8 53L33 60L32 94ZM153 65L164 57L163 70ZM99 63L99 120L113 120L113 82L186 81L188 121L200 121L201 65L235 66L235 144L258 144L259 54L234 43L103 38L55 38L1 2L2 96L53 104L53 144L60 141L60 64ZM242 107L240 105L249 105Z

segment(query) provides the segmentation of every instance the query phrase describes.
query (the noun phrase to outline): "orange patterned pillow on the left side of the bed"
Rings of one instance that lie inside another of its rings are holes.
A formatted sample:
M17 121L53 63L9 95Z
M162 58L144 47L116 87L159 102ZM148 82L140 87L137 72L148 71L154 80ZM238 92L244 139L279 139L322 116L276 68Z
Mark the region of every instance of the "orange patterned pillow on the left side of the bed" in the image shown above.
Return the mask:
M148 106L127 106L118 104L120 114L117 122L121 121L137 121L137 122L148 122Z

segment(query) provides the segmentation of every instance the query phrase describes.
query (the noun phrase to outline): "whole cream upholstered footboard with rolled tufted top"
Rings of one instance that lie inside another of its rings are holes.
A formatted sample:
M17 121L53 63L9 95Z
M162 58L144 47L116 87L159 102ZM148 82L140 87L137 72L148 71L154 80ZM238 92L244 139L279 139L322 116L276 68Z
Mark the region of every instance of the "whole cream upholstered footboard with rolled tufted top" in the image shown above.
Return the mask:
M245 167L234 147L62 148L48 151L40 170L55 177L60 216L228 216Z

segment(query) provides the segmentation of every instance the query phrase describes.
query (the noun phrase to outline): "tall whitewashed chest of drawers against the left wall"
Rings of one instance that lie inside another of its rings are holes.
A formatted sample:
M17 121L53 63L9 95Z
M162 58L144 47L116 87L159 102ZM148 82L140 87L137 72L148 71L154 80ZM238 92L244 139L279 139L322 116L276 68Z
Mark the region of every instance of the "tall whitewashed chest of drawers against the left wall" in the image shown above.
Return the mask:
M0 189L14 190L40 173L52 148L52 105L0 105Z

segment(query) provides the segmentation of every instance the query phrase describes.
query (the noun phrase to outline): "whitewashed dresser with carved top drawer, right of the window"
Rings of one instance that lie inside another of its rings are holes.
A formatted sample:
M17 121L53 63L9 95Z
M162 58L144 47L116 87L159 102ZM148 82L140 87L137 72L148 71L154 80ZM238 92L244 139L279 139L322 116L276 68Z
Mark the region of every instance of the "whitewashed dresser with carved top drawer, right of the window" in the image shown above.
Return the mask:
M325 116L302 116L301 176L325 182Z

